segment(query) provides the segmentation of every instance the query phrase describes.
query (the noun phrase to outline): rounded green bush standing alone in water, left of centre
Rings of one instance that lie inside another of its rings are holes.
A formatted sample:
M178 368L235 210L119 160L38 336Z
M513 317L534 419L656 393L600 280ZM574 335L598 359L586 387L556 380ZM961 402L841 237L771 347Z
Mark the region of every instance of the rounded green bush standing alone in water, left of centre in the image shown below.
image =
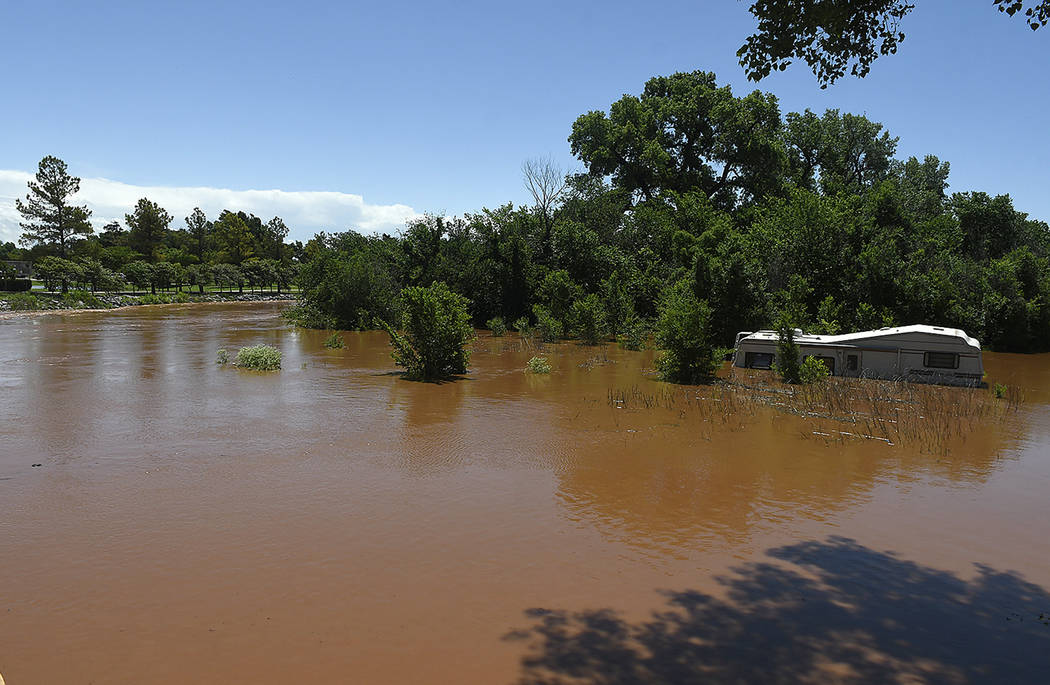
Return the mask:
M470 361L466 345L474 339L468 304L466 297L440 281L428 288L402 290L400 331L377 320L391 336L394 362L417 380L441 380L466 373Z

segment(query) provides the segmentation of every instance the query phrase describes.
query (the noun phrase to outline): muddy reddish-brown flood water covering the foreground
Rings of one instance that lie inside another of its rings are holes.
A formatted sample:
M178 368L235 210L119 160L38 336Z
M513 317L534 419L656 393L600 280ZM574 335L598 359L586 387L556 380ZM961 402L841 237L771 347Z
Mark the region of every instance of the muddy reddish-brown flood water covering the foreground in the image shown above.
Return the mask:
M1048 355L931 449L622 406L669 387L614 346L412 382L282 306L0 319L7 685L1050 678Z

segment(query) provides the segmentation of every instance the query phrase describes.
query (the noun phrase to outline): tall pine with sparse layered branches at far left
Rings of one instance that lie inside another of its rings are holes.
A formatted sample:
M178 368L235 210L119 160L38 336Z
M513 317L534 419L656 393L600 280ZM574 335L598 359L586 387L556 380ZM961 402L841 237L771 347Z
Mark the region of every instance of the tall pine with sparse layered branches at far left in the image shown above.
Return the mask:
M36 181L29 181L28 186L25 202L15 201L15 206L25 219L20 224L23 233L19 242L26 247L57 247L59 256L65 258L70 240L93 230L87 221L91 210L84 205L69 204L70 196L80 190L80 179L69 175L65 162L47 155L40 161ZM63 292L65 289L63 282Z

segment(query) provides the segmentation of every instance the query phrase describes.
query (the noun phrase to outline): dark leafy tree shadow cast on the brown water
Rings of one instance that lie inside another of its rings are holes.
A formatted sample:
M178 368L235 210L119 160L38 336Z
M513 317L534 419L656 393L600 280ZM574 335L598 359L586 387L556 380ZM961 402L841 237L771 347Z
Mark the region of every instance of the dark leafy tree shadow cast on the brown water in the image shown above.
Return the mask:
M665 591L632 623L610 608L529 609L522 685L1036 683L1050 679L1050 595L978 565L973 580L845 538L769 552L726 599Z

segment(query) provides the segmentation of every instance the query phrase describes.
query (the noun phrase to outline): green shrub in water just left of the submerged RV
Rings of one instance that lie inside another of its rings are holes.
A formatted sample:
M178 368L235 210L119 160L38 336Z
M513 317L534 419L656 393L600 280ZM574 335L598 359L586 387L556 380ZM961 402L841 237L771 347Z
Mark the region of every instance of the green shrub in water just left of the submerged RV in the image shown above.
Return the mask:
M656 320L656 345L664 354L656 368L665 380L702 382L717 368L710 334L711 307L696 297L693 284L682 279L660 300Z

